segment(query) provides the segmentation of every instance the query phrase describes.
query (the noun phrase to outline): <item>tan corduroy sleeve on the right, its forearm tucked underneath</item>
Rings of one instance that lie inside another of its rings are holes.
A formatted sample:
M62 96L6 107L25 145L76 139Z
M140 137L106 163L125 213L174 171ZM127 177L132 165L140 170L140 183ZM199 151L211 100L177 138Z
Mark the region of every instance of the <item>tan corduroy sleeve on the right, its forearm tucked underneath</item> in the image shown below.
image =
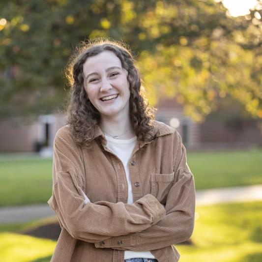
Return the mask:
M151 251L187 240L193 233L195 217L195 182L186 161L186 149L178 132L173 163L175 178L166 201L166 216L139 233L112 237L95 243L97 248L117 250Z

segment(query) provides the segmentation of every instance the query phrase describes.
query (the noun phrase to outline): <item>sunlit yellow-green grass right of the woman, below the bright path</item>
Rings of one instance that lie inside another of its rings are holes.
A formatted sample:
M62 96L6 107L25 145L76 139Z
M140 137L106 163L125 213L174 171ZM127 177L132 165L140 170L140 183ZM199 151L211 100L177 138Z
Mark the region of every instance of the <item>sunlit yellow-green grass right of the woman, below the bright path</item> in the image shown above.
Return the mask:
M194 246L176 245L179 262L261 262L262 202L197 206Z

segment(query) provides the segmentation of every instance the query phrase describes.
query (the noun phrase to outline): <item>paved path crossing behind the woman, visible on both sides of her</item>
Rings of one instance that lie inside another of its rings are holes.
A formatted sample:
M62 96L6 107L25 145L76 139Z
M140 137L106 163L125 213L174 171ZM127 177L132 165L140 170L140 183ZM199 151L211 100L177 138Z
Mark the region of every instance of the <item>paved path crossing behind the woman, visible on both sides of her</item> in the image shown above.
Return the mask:
M196 192L196 204L208 205L228 202L262 201L262 185L207 189ZM54 216L48 204L10 206L0 208L0 224L20 223Z

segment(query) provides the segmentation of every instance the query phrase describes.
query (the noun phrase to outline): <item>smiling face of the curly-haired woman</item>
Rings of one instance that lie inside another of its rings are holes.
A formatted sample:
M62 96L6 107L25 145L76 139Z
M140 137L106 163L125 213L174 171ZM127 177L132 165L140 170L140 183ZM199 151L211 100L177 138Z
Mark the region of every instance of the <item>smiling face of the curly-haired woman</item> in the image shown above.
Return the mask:
M103 117L129 116L128 72L111 51L87 58L83 65L88 99Z

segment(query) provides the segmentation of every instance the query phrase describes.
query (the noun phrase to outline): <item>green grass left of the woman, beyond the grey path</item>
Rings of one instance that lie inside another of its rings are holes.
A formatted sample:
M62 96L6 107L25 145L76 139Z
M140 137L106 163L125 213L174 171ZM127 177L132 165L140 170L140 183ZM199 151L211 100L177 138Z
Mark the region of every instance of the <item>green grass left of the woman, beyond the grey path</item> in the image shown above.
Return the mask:
M52 159L0 155L0 206L46 203L52 194Z

